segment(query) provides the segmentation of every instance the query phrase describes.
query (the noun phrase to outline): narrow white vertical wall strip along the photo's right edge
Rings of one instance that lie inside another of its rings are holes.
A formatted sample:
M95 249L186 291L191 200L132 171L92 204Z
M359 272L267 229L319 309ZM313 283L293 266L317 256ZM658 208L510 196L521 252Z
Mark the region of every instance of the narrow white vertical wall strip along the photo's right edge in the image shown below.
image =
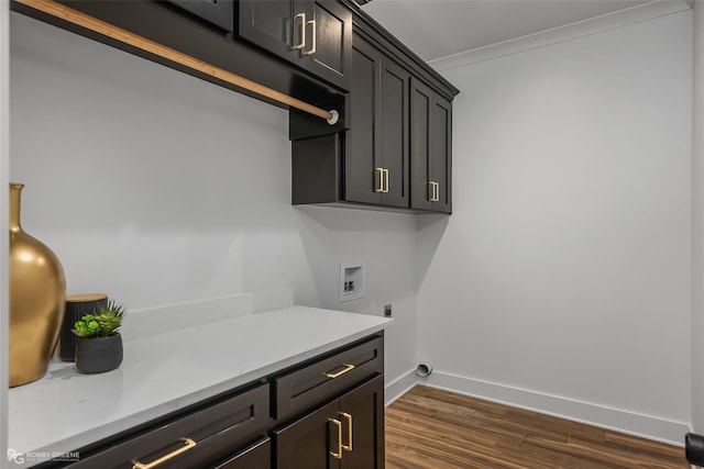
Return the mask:
M704 433L704 3L696 0L692 120L692 428Z

